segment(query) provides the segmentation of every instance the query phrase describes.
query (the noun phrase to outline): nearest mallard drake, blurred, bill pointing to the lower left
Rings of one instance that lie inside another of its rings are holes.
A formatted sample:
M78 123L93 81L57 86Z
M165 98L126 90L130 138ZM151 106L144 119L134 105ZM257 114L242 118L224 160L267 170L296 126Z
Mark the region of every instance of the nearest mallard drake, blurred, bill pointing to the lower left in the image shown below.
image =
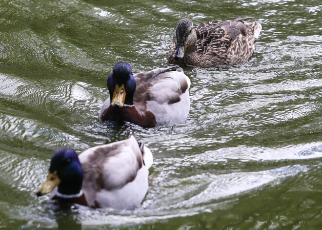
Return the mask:
M151 151L132 135L129 139L96 146L79 156L72 149L57 150L47 181L37 196L91 208L134 209L148 189Z

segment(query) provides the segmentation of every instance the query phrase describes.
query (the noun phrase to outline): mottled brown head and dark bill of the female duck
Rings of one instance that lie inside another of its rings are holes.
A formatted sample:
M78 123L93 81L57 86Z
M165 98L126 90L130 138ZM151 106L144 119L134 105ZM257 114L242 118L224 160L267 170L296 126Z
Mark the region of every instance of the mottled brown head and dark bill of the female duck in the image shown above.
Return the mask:
M173 42L176 44L176 50L173 55L175 60L183 58L187 49L195 49L197 34L190 19L181 19L178 21L176 30L173 33Z

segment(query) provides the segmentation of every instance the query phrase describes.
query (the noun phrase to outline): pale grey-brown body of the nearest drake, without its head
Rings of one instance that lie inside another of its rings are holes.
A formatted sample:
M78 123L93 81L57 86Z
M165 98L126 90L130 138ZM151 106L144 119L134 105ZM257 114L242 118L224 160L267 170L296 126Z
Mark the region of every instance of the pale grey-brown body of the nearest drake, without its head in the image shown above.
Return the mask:
M83 192L94 208L134 209L148 189L148 168L137 139L89 148L79 155ZM152 163L151 163L152 164Z

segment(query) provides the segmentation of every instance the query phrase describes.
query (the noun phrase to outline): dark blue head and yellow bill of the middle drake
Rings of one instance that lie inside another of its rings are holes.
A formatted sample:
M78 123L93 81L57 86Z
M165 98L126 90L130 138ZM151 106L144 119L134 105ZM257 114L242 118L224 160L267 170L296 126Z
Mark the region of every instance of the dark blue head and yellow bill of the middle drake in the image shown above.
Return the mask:
M133 105L136 81L129 63L119 62L114 65L113 73L107 79L107 88L113 107Z

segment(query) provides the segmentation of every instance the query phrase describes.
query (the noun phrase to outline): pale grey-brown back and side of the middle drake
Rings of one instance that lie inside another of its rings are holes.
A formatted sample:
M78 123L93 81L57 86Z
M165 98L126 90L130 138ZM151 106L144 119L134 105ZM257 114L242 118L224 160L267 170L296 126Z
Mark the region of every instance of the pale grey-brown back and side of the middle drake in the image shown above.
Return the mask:
M157 125L173 125L186 120L190 109L190 80L182 68L159 68L134 77L137 82L134 104L151 111Z

